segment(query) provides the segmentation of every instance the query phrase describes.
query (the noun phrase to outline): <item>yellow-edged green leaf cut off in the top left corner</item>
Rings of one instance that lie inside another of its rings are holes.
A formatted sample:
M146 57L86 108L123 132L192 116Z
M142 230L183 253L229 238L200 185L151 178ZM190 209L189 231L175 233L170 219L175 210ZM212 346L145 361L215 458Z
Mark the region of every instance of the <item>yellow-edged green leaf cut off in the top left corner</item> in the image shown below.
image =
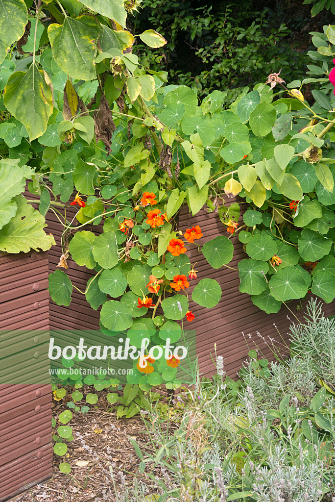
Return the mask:
M0 63L11 45L25 33L28 11L23 0L0 3Z

